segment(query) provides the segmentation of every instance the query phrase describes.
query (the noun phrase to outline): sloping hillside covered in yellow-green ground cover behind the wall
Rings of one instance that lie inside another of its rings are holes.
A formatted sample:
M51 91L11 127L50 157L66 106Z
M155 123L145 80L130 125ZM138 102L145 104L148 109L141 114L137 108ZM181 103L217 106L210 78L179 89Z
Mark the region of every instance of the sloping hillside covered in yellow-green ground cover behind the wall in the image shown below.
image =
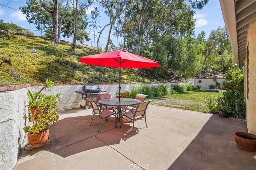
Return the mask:
M0 57L6 60L12 55L13 65L2 64L0 84L37 84L45 82L46 78L55 83L118 82L118 68L78 63L81 56L96 51L80 46L75 51L70 48L71 44L64 41L53 45L50 39L43 37L1 33ZM144 80L134 69L122 69L121 79L123 83Z

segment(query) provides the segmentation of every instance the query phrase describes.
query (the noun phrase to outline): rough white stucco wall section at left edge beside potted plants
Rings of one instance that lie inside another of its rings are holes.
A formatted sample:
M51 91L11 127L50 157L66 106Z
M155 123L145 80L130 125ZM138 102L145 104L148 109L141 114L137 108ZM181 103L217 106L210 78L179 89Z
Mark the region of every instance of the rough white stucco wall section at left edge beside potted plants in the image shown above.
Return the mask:
M26 88L0 93L0 169L12 169L17 162L25 136L24 119L28 114Z

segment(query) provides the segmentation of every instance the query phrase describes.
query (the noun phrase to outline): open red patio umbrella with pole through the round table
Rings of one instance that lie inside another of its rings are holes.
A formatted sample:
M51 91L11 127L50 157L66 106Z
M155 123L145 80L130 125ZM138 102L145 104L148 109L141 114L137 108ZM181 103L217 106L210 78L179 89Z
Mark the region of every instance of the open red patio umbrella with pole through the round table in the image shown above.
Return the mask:
M80 61L96 66L119 67L119 100L121 91L121 67L122 68L152 68L160 67L158 61L148 59L139 55L128 53L124 50L112 51L80 57Z

